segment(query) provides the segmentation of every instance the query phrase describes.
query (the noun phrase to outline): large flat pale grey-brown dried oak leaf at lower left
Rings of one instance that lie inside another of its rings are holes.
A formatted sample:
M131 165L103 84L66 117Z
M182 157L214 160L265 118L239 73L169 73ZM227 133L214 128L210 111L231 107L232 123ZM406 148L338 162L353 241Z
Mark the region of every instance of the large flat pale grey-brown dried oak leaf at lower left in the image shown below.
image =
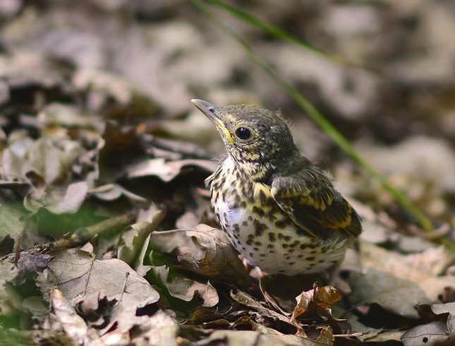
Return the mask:
M102 291L113 302L109 325L99 333L116 330L122 335L133 326L146 321L147 314L139 314L146 306L159 299L159 293L125 262L113 258L99 261L87 251L59 249L50 251L54 256L47 269L37 276L43 292L51 292L56 286L72 302L80 303L90 294ZM44 297L47 297L44 294ZM101 298L100 298L101 299Z

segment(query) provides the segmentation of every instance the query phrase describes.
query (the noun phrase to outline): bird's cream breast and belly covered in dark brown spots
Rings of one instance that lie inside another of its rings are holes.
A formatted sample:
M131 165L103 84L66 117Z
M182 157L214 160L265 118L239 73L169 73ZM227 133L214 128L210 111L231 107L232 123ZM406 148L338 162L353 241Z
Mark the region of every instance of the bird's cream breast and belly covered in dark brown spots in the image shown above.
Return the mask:
M212 206L231 244L265 273L317 273L344 258L353 239L306 236L272 198L270 186L242 177L226 160L207 178Z

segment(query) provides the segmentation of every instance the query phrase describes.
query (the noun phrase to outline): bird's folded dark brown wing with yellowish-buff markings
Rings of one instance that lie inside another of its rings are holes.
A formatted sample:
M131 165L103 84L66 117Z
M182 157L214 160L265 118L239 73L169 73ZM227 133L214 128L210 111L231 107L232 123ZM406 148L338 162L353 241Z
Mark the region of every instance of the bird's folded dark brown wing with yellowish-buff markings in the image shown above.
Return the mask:
M334 189L327 177L315 169L277 177L272 197L291 220L314 237L327 238L339 230L357 237L362 232L360 217Z

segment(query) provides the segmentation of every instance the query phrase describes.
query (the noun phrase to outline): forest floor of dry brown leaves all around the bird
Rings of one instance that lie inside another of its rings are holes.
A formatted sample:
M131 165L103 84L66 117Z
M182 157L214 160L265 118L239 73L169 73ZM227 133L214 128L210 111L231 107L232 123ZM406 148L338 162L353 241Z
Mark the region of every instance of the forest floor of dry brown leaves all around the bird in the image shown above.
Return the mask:
M449 0L1 1L0 344L455 345L454 32ZM245 268L193 98L281 112L357 210L336 289Z

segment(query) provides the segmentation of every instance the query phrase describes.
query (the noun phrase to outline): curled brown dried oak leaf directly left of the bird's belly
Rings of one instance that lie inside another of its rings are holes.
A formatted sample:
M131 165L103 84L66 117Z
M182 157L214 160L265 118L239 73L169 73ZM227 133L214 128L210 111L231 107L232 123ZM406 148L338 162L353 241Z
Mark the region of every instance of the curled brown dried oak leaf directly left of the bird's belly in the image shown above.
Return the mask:
M154 232L152 249L174 256L181 266L193 273L235 284L249 285L250 277L238 253L219 229L198 225L194 229Z

